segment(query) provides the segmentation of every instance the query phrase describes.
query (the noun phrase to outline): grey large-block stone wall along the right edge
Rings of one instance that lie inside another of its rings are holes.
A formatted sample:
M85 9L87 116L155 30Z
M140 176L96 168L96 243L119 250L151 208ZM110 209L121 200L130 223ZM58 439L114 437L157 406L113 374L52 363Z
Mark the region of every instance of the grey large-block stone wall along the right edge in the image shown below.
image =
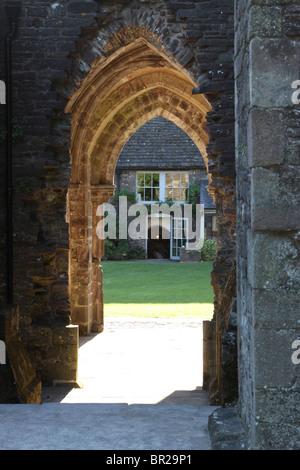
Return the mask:
M239 405L250 448L299 449L299 2L235 17Z

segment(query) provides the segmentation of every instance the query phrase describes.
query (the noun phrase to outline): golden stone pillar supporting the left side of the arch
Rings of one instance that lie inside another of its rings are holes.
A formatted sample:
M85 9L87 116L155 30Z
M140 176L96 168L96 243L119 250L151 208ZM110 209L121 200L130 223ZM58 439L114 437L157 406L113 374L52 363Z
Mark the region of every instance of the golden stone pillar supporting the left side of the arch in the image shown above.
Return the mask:
M81 335L103 330L103 240L96 234L96 212L113 191L114 186L107 185L73 184L69 189L71 319Z

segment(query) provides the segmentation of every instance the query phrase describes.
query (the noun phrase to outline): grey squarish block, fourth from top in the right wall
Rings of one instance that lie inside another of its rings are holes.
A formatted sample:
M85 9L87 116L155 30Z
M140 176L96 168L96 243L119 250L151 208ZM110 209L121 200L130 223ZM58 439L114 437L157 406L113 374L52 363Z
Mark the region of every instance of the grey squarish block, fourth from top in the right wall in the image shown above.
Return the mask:
M294 167L278 172L252 170L251 224L254 230L300 229L300 174Z

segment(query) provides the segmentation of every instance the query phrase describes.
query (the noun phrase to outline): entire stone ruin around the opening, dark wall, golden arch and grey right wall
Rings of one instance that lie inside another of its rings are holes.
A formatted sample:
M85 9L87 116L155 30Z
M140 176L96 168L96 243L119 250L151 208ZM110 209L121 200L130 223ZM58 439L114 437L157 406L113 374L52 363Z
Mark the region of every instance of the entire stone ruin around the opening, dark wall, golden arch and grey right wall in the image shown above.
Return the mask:
M78 334L103 329L97 207L162 116L216 205L212 400L237 395L249 448L298 449L298 0L7 0L0 25L3 401L76 380Z

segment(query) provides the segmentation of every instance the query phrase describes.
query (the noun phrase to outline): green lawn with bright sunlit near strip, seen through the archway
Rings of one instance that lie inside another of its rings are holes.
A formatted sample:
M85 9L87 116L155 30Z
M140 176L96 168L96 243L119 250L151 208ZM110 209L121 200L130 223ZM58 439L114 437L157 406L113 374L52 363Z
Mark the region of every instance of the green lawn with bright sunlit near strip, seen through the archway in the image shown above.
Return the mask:
M103 261L105 316L211 319L211 262Z

